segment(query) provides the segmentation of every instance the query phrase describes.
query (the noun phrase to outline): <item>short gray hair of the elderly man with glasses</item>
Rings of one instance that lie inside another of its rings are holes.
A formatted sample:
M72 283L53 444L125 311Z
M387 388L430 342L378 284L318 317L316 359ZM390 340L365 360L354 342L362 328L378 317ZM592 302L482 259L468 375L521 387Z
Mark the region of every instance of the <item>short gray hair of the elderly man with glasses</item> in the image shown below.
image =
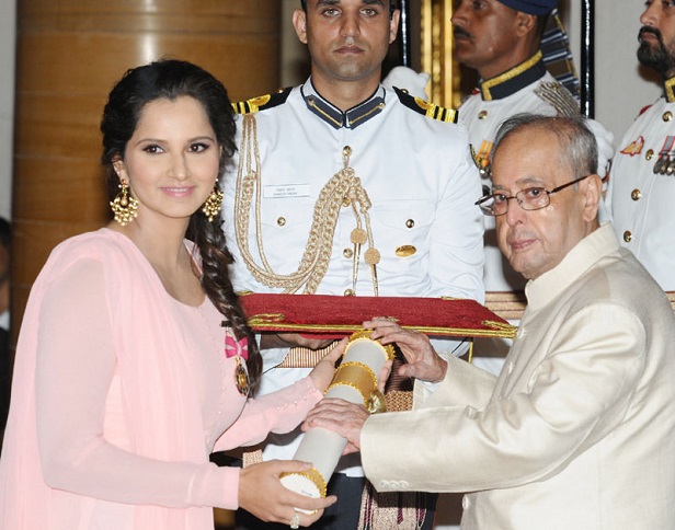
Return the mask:
M491 162L506 138L519 130L531 128L556 135L560 146L560 162L572 170L574 178L597 173L597 141L581 115L542 116L523 113L510 117L496 131Z

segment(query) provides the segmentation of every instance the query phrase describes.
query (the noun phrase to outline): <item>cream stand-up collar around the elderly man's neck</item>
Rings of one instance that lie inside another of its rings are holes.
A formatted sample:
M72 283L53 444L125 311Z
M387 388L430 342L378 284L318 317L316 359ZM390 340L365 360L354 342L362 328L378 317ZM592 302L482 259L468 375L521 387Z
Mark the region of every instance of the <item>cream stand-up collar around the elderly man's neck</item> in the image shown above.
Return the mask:
M527 306L536 311L554 300L603 257L620 249L611 223L586 235L557 267L525 286Z

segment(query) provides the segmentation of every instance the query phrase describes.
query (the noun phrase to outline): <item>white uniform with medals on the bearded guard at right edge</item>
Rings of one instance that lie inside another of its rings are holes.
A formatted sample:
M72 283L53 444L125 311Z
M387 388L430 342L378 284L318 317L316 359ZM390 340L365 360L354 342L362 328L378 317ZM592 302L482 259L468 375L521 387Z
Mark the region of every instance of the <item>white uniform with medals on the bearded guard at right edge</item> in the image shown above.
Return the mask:
M630 126L614 158L607 201L621 244L675 291L675 78Z

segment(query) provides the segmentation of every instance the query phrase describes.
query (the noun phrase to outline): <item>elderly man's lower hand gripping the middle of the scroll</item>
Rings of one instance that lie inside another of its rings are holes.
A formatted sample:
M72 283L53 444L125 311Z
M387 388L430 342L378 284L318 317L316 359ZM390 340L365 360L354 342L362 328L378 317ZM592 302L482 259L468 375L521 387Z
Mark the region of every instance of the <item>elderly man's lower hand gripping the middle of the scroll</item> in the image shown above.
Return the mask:
M325 398L314 406L302 424L302 430L321 427L338 433L347 440L345 454L361 449L361 430L370 413L363 405L356 405L336 398Z

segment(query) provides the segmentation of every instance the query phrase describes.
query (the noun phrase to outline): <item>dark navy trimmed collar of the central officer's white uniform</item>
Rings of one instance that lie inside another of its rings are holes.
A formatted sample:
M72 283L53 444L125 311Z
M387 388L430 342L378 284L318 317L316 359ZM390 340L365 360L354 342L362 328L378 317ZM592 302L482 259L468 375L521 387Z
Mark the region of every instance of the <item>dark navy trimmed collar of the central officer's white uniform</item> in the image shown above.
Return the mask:
M342 127L355 129L377 116L386 106L386 92L381 84L370 97L344 113L319 94L311 79L301 87L300 91L307 108L335 129Z

